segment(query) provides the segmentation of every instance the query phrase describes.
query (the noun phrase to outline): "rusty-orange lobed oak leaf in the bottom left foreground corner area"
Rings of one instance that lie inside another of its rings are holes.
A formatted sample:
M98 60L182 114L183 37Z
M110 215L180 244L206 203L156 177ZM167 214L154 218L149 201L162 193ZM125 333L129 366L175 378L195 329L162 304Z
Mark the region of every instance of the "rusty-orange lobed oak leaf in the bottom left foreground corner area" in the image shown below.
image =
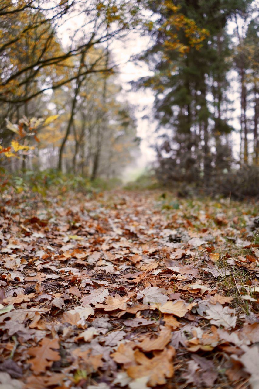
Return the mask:
M28 350L28 354L34 357L28 362L31 364L31 369L37 374L43 373L54 361L60 359L58 351L53 350L59 349L58 339L43 338L39 345Z

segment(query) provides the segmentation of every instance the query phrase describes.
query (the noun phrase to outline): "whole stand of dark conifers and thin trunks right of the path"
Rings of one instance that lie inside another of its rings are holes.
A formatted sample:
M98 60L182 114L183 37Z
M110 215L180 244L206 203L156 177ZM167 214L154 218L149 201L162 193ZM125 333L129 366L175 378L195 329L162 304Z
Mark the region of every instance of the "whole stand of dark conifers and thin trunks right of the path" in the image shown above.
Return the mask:
M140 79L137 86L154 91L156 172L161 182L258 194L259 25L255 3L149 3L156 15L150 27L154 43L140 59L154 75ZM182 27L171 22L175 18L181 19ZM197 39L194 44L193 35L184 30L186 19L196 25L194 37L202 35L200 44ZM173 45L170 37L174 37ZM231 101L233 85L238 85L235 101ZM237 104L240 124L234 129L231 119ZM231 140L238 132L240 150L235 156Z

